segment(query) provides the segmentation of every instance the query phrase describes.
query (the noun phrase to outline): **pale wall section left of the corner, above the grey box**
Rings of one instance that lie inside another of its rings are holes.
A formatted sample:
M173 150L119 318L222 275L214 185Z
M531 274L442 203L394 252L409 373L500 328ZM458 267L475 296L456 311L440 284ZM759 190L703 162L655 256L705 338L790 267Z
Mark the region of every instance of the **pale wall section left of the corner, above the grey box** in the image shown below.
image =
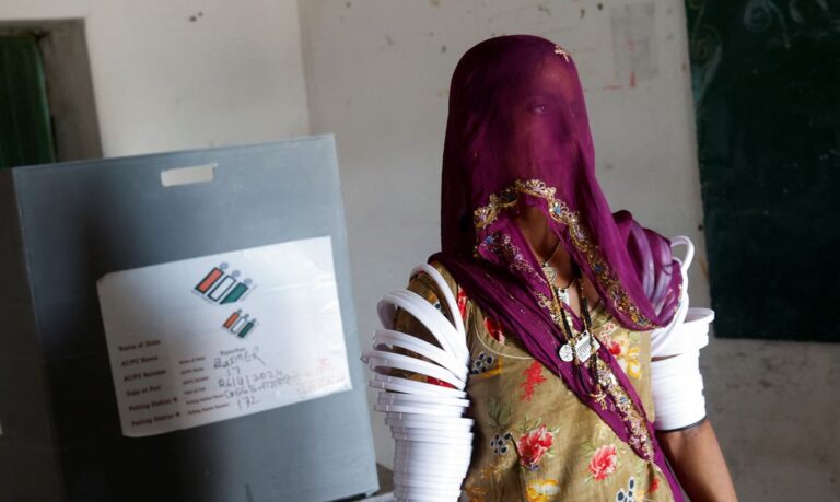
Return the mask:
M68 17L85 21L105 156L308 132L294 0L0 2L0 22Z

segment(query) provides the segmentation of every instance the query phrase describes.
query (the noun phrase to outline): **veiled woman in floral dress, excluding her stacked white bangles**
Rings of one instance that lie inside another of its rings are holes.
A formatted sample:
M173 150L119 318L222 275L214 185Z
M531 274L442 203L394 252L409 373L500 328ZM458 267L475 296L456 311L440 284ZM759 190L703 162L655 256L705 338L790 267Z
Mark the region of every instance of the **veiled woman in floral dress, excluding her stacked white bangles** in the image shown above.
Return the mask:
M651 334L687 307L684 275L666 238L610 212L561 47L503 36L462 58L441 217L430 262L460 312L423 273L409 290L467 327L469 500L682 500L680 485L695 501L735 500L704 417L654 431ZM434 340L404 311L395 329Z

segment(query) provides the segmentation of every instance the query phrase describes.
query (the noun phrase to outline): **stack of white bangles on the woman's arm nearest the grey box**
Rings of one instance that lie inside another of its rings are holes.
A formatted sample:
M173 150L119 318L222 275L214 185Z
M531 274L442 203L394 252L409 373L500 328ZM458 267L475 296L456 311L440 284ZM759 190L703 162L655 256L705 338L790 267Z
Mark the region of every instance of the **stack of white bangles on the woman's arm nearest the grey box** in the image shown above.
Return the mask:
M453 323L419 294L400 290L386 294L378 304L383 328L373 335L373 350L362 361L373 370L369 385L381 389L374 409L385 413L396 442L394 494L398 501L454 501L472 453L472 419L464 387L467 383L469 351L464 322L452 290L434 267L421 265L411 275L427 273L444 296ZM417 318L440 347L394 330L397 308ZM425 360L396 353L407 349ZM432 362L430 362L432 361ZM390 370L419 373L454 388L390 376Z

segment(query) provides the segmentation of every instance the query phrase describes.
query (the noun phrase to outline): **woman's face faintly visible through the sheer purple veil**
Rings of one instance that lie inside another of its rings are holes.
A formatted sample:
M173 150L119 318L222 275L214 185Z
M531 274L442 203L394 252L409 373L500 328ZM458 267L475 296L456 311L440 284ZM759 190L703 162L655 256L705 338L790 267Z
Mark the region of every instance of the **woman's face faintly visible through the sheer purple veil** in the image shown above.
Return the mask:
M524 55L516 71L504 73L488 61L487 82L469 82L477 106L460 124L468 129L468 148L477 161L468 164L471 178L490 174L505 184L542 179L556 185L578 178L586 170L581 147L590 144L582 89L573 67L552 50ZM482 72L482 73L485 73ZM471 101L471 100L470 100ZM585 148L585 147L584 147Z

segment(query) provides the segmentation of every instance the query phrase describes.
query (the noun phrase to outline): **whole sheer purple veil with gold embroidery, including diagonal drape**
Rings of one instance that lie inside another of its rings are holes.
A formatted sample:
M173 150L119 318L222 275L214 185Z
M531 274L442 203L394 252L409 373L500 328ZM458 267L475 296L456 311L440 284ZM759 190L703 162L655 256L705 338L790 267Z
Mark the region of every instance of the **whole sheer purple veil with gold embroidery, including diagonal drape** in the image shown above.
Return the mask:
M598 355L634 405L635 418L619 402L620 393L602 408L590 397L592 381L558 357L564 337L547 307L551 291L515 222L524 206L541 210L618 323L634 330L666 326L681 288L670 243L629 212L610 211L594 157L583 90L564 49L528 35L476 45L462 57L450 87L442 252L430 261L441 261L472 301L640 456L655 462L675 488L641 400L610 353L602 348ZM572 319L581 329L581 319ZM679 498L679 489L673 491Z

